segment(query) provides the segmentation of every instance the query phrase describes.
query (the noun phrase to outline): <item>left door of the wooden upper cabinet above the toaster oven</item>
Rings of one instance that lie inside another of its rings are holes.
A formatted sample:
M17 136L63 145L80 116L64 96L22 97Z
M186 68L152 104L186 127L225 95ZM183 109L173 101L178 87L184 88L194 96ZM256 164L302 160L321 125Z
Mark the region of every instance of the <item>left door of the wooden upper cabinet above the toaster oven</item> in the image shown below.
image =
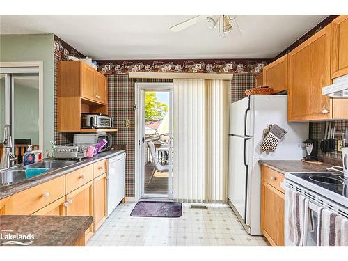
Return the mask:
M86 63L81 62L81 97L85 97L90 100L95 100L95 74L97 72L86 65Z

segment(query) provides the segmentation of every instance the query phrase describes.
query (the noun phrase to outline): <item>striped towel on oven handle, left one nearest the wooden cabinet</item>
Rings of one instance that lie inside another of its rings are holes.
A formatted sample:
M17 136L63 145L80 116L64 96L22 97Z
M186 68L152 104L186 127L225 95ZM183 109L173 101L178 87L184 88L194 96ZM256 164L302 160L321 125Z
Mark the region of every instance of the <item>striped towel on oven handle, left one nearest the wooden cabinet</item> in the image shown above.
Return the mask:
M309 200L285 187L285 246L305 246Z

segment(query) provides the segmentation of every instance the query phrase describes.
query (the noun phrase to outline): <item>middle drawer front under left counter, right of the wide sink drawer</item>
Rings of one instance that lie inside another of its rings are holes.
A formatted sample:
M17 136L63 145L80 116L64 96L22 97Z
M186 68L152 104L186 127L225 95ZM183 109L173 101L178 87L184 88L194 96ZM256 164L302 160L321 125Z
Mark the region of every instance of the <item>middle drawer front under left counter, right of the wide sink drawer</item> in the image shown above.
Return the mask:
M65 175L66 193L81 187L83 184L93 180L93 166L92 164L79 168L77 171L72 171Z

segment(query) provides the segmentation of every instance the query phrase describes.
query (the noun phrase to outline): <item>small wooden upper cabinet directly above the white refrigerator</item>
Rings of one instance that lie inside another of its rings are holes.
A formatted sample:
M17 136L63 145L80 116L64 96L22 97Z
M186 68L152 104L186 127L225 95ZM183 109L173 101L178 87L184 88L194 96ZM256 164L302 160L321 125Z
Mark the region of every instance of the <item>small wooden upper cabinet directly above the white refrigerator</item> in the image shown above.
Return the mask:
M263 85L273 89L273 93L287 90L287 54L263 68Z

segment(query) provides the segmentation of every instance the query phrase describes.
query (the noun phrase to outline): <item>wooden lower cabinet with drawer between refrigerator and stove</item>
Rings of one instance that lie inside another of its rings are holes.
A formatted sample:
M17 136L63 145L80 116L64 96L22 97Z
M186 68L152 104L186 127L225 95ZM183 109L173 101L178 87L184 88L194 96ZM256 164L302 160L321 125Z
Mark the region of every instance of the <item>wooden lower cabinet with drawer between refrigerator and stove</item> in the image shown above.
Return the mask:
M272 177L273 182L279 177L269 176L271 172L282 175L262 166L261 230L272 246L284 246L284 193L274 187L276 183L269 184L268 177Z

